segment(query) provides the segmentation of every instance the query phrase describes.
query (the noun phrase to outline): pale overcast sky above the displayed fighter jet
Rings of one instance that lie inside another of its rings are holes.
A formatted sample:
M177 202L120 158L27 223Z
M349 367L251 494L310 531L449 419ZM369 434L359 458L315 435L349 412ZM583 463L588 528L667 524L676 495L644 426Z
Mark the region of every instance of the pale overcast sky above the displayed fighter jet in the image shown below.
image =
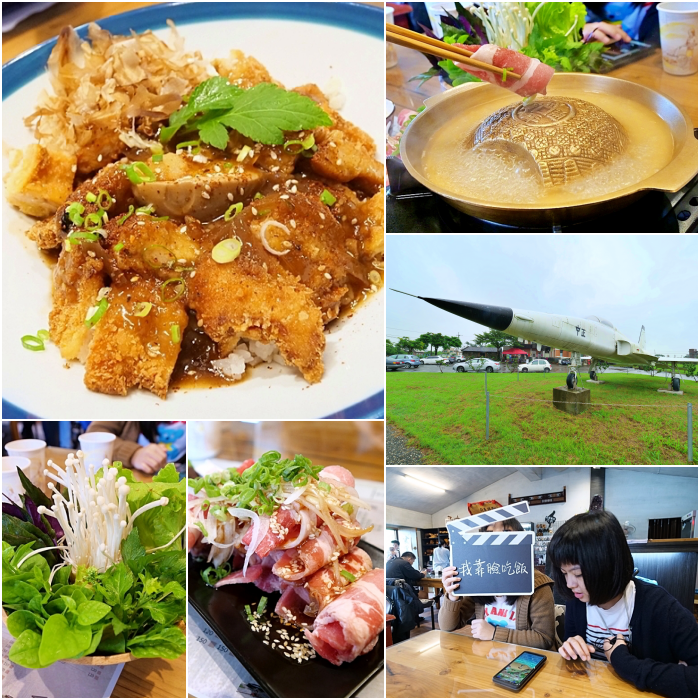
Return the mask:
M387 236L387 337L487 329L390 291L607 318L647 350L698 347L697 236Z

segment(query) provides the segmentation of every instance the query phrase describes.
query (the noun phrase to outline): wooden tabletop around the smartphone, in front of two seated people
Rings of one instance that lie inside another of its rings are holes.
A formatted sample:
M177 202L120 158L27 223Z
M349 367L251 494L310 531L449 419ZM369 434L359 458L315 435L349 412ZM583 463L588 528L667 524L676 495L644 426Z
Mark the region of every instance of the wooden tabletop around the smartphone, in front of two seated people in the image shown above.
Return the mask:
M557 652L518 644L483 642L466 634L434 630L386 650L388 698L504 697L511 691L492 678L523 651L547 657L522 697L660 698L623 681L605 661L566 661ZM481 692L479 692L481 691Z

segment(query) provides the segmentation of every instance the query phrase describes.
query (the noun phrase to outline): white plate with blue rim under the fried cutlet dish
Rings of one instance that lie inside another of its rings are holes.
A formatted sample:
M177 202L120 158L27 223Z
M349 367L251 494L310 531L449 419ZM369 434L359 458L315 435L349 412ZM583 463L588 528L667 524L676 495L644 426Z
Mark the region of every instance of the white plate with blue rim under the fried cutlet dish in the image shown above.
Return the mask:
M382 143L384 41L381 8L331 2L163 3L100 20L113 34L153 30L165 36L172 19L188 51L205 59L240 49L263 63L283 84L332 81L346 96L342 115ZM77 27L81 37L87 25ZM34 143L23 118L49 89L46 61L51 39L2 68L3 146ZM7 172L3 147L2 172ZM382 155L377 153L378 158ZM84 367L66 363L51 343L43 352L26 350L20 338L48 327L51 270L24 232L33 219L2 196L2 417L84 418L137 415L161 418L380 418L384 416L384 373L373 361L384 330L384 295L372 295L357 312L326 334L325 374L309 385L296 369L254 368L238 384L181 389L163 400L143 390L127 396L89 391ZM249 370L250 372L250 370Z

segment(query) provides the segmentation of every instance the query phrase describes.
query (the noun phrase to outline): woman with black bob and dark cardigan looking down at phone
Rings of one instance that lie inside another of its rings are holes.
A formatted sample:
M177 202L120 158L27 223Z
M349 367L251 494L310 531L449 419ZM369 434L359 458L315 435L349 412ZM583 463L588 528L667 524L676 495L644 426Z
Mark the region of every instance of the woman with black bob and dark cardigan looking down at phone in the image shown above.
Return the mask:
M643 691L698 697L698 623L668 591L633 578L634 562L617 518L602 510L567 520L547 548L566 603L565 659L598 650Z

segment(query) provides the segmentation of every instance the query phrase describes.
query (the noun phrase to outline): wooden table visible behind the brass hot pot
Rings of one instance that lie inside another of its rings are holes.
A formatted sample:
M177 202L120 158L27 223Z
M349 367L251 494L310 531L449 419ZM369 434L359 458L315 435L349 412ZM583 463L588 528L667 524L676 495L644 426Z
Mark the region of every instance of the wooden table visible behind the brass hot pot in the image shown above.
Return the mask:
M418 109L423 100L437 95L445 88L437 78L431 78L422 86L410 78L430 68L430 62L418 51L394 46L399 62L386 71L386 96L401 109ZM698 75L670 75L661 67L661 49L621 68L606 73L615 78L646 85L657 92L668 95L688 113L694 125L698 123Z

